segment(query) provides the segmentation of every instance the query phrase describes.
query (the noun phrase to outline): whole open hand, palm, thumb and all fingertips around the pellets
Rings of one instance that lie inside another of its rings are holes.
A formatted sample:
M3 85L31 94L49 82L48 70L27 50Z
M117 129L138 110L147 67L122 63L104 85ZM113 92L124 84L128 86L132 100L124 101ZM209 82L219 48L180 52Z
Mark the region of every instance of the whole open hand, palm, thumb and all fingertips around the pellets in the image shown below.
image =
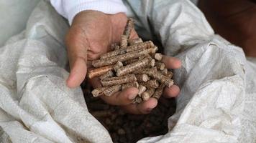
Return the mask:
M90 61L109 51L109 46L120 41L120 36L127 23L127 16L123 13L104 14L99 11L82 11L73 19L73 23L66 36L68 59L70 62L70 76L67 80L68 87L78 87L86 77L87 69L91 68ZM138 38L136 31L132 29L130 39ZM181 66L178 59L173 57L163 58L163 62L170 69ZM98 78L90 81L96 88L101 84ZM165 88L166 97L176 97L180 89L173 85ZM147 114L157 105L157 100L150 98L141 104L132 104L138 92L137 88L129 88L124 92L118 92L111 97L101 97L109 104L124 107L134 114Z

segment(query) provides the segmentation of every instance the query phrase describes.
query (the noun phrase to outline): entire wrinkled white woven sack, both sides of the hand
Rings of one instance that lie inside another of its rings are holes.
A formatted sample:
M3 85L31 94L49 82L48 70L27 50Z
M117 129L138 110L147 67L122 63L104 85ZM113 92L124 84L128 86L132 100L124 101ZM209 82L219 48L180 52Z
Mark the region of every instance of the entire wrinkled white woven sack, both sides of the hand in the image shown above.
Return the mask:
M256 62L225 41L191 1L124 1L138 33L183 62L169 132L139 142L256 142ZM1 142L112 142L68 89L67 22L40 1L22 33L0 48Z

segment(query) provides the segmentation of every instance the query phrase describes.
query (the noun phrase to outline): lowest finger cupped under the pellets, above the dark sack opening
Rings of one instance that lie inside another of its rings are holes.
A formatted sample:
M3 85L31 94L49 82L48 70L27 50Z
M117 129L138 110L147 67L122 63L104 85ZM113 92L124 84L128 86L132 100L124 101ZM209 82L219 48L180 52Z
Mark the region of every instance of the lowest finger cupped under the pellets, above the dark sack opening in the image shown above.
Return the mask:
M132 114L149 114L157 106L157 99L150 98L140 104L129 104L123 109Z

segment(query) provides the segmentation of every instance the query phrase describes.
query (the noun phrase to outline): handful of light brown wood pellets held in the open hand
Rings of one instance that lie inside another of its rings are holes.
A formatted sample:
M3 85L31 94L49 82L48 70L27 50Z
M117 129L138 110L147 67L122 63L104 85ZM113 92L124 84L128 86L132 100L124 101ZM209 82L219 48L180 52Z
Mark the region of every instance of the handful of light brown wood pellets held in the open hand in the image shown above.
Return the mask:
M129 39L134 21L128 19L120 44L112 44L110 52L92 61L93 69L88 77L99 77L102 87L93 89L93 97L111 96L130 87L139 89L134 103L159 99L165 86L173 85L173 73L161 62L163 55L156 53L152 41Z

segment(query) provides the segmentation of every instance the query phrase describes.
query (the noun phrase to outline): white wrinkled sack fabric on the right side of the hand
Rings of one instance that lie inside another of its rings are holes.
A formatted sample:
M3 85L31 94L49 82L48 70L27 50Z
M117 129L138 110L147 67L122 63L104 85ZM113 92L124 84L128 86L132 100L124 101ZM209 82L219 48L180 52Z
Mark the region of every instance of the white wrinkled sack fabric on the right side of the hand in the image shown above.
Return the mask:
M183 62L169 132L142 142L256 142L256 62L214 31L191 1L128 1L139 34Z

